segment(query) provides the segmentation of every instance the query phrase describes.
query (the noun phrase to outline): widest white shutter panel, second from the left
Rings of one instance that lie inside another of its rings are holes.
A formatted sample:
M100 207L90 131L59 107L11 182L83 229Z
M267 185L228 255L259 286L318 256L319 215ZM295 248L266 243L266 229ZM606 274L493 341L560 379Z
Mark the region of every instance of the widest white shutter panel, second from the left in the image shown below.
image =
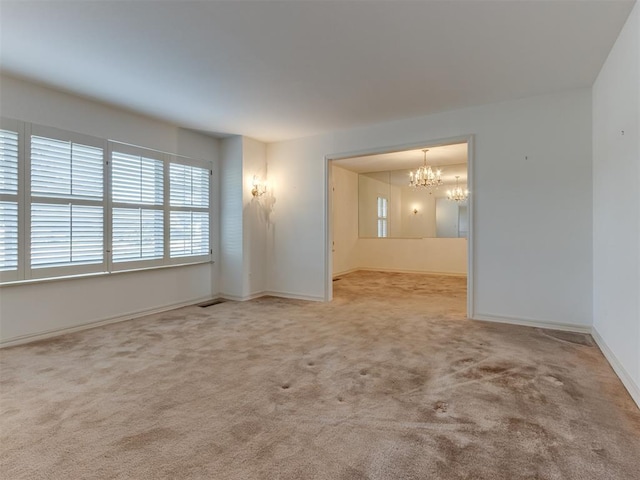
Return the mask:
M42 131L30 144L30 276L104 271L102 141Z

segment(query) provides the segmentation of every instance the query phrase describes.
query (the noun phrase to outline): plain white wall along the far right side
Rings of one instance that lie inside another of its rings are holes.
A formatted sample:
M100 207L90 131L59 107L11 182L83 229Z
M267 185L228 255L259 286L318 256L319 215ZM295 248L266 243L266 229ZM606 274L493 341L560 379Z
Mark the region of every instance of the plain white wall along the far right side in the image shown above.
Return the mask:
M594 336L640 405L638 4L593 86L593 173Z

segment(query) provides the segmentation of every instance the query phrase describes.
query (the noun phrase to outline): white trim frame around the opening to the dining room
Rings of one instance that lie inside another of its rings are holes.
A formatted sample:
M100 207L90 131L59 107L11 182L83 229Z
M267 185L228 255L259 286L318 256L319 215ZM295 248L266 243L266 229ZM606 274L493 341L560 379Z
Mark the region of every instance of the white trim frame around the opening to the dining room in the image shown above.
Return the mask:
M340 152L325 155L324 160L324 181L325 181L325 204L324 204L324 231L325 231L325 291L324 300L329 302L333 299L333 185L332 185L332 162L352 157L363 157L368 155L379 155L383 153L402 152L404 150L417 150L423 148L441 147L454 143L467 143L467 188L469 197L467 208L469 216L469 233L467 236L467 318L473 318L475 305L475 148L474 135L460 135L435 140L425 140L418 143L405 143L400 145L390 145L383 147L372 147L363 150Z

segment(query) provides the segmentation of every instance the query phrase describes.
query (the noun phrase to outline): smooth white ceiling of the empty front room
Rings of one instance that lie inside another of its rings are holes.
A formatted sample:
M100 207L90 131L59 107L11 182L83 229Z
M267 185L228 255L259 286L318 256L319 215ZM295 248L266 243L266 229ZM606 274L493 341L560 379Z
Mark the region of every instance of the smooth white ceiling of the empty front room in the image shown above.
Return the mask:
M277 141L589 87L633 3L2 0L0 68Z

